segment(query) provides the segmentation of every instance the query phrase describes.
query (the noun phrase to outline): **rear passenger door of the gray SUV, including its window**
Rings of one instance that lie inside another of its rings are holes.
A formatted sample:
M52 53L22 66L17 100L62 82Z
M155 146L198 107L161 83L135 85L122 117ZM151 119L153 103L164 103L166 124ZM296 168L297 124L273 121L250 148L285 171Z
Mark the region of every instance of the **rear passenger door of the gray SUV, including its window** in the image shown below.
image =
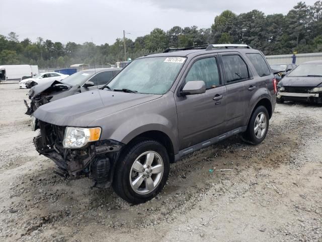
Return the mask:
M220 56L227 88L226 128L230 131L246 125L245 117L249 114L250 100L258 83L239 52L225 52Z

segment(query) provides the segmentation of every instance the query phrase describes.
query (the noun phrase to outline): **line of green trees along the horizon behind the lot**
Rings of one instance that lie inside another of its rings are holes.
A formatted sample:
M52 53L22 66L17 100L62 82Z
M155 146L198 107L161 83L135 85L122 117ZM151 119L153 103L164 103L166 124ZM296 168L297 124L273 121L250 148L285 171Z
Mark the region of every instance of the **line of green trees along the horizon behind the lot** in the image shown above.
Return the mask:
M286 15L265 15L253 10L235 14L223 11L214 18L211 28L174 26L159 28L134 41L126 38L127 57L162 52L168 47L189 47L217 43L245 43L266 55L322 52L322 2L312 6L299 2ZM123 39L114 44L92 42L52 42L41 37L20 41L18 34L0 35L0 65L29 64L40 68L69 67L75 63L109 65L124 61Z

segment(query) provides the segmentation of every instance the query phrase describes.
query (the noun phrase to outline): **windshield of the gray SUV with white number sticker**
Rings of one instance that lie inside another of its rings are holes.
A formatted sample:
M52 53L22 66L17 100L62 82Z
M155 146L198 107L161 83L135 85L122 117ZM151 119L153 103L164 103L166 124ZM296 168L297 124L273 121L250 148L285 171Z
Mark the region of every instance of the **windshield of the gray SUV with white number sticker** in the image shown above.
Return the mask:
M136 59L110 83L112 89L164 94L174 83L185 57L146 57Z

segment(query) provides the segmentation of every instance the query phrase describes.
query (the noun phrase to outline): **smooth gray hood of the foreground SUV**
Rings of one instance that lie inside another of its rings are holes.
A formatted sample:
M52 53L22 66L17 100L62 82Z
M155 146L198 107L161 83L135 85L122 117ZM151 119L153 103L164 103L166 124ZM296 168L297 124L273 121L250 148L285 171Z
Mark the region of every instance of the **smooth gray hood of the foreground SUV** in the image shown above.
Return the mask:
M49 102L33 115L53 125L88 127L96 119L161 96L95 89Z

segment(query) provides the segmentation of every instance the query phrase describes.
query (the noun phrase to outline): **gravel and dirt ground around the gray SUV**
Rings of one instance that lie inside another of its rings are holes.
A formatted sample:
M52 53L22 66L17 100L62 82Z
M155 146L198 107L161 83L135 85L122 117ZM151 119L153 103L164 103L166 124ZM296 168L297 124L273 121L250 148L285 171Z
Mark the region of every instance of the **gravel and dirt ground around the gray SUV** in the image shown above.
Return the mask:
M261 145L236 136L196 152L131 206L53 174L33 147L27 92L0 85L1 241L322 241L322 107L278 104Z

